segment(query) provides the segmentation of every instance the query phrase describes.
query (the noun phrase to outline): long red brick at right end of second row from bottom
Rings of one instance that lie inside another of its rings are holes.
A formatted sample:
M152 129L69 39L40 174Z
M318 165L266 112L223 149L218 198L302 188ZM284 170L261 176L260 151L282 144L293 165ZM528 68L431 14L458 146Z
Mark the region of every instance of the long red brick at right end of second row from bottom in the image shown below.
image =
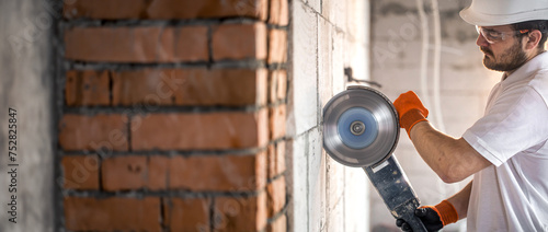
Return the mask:
M266 183L266 154L174 156L169 179L172 189L256 190Z

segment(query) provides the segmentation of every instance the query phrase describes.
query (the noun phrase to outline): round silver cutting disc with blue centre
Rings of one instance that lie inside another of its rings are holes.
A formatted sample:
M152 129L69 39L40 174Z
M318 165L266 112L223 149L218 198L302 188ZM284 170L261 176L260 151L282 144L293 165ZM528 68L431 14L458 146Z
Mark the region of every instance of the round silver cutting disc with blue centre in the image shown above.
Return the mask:
M399 131L392 103L370 88L351 86L323 108L323 148L347 166L372 166L388 159Z

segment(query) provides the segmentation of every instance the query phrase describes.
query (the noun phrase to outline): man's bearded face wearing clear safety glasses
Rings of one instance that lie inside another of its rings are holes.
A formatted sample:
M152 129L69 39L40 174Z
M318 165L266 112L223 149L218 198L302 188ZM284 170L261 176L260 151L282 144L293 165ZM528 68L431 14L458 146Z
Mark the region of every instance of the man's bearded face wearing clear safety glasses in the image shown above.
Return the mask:
M503 33L504 39L489 43L483 34L478 36L476 44L483 51L483 65L495 71L512 71L520 68L527 60L523 49L522 37L515 36L513 28L504 26L484 26L487 31Z

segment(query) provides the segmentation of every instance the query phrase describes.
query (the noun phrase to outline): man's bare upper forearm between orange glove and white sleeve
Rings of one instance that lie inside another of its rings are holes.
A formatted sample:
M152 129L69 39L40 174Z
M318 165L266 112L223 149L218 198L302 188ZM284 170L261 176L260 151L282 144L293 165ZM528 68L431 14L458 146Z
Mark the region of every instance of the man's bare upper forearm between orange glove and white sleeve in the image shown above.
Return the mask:
M410 137L422 159L445 183L460 182L491 165L465 139L442 134L427 120L414 125Z

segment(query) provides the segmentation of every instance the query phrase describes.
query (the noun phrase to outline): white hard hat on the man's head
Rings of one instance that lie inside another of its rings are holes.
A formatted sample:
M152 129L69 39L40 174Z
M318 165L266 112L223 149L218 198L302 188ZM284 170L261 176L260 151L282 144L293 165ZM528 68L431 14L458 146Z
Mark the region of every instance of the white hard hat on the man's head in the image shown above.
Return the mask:
M460 18L478 26L498 26L548 20L548 0L472 0Z

